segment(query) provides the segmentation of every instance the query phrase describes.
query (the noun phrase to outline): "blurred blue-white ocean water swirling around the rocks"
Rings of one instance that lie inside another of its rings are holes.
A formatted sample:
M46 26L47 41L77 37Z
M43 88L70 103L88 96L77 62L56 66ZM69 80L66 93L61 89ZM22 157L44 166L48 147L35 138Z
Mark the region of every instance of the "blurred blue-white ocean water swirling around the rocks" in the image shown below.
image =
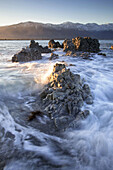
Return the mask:
M48 41L38 41L46 46ZM62 41L61 41L62 42ZM12 63L12 56L29 41L0 41L0 170L113 170L113 41L101 40L106 56L91 60L64 56L27 63ZM62 135L46 132L47 117L28 122L38 109L38 94L56 62L64 61L86 81L94 97L87 119L79 129ZM41 127L41 128L40 128Z

